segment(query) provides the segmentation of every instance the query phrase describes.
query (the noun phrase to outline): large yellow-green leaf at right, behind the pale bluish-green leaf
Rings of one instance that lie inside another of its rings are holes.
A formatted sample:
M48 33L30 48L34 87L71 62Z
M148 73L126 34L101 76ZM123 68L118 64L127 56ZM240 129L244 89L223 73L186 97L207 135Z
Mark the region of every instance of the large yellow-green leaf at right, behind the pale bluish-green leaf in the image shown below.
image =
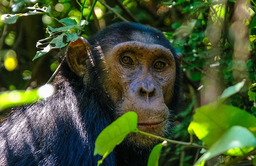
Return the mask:
M190 130L211 146L235 125L246 127L256 136L256 118L252 114L232 105L210 103L195 110Z

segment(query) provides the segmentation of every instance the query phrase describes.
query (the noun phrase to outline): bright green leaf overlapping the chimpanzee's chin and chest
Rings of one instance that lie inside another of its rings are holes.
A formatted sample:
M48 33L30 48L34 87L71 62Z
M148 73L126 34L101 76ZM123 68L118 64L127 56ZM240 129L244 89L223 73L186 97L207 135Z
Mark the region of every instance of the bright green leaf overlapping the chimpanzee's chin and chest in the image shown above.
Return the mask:
M137 114L133 111L125 113L101 131L95 141L93 155L99 154L106 158L130 132L138 132Z

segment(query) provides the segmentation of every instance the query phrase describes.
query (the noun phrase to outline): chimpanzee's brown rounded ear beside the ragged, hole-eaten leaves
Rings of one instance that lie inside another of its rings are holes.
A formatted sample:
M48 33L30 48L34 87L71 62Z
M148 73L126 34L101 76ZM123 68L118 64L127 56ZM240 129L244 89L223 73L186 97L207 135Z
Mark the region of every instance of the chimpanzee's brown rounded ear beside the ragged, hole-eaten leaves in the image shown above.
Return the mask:
M91 45L83 38L70 42L67 48L66 59L70 69L78 76L83 77L86 72L86 59L91 54Z

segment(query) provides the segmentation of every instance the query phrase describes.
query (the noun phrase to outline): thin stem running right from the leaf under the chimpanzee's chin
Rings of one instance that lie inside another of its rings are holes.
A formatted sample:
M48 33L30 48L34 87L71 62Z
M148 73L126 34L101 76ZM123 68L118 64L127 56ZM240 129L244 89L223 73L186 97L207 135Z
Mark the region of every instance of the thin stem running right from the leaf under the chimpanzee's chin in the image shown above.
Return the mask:
M171 140L171 139L167 139L167 138L164 138L164 137L160 137L160 136L156 136L156 135L153 135L153 134L150 134L150 133L147 133L147 132L144 132L144 131L140 131L139 132L140 134L142 135L145 135L145 136L148 136L149 138L155 138L155 139L159 139L159 140L165 140L171 144L179 144L179 145L184 145L184 146L189 146L189 147L195 147L195 148L204 148L204 149L209 149L209 147L207 146L202 146L202 145L199 145L199 144L195 144L195 143L190 143L190 142L182 142L182 141L175 141L175 140Z

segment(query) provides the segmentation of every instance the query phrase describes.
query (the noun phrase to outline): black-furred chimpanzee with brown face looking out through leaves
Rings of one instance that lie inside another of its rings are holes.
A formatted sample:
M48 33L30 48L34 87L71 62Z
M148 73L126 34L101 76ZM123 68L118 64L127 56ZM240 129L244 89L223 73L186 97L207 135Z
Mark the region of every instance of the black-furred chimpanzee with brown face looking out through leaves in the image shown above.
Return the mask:
M67 48L52 82L56 93L15 108L0 127L1 166L93 166L99 133L127 111L138 128L170 135L179 108L180 56L164 34L135 23L116 23ZM129 134L103 166L146 165L158 141ZM107 144L108 142L106 142Z

